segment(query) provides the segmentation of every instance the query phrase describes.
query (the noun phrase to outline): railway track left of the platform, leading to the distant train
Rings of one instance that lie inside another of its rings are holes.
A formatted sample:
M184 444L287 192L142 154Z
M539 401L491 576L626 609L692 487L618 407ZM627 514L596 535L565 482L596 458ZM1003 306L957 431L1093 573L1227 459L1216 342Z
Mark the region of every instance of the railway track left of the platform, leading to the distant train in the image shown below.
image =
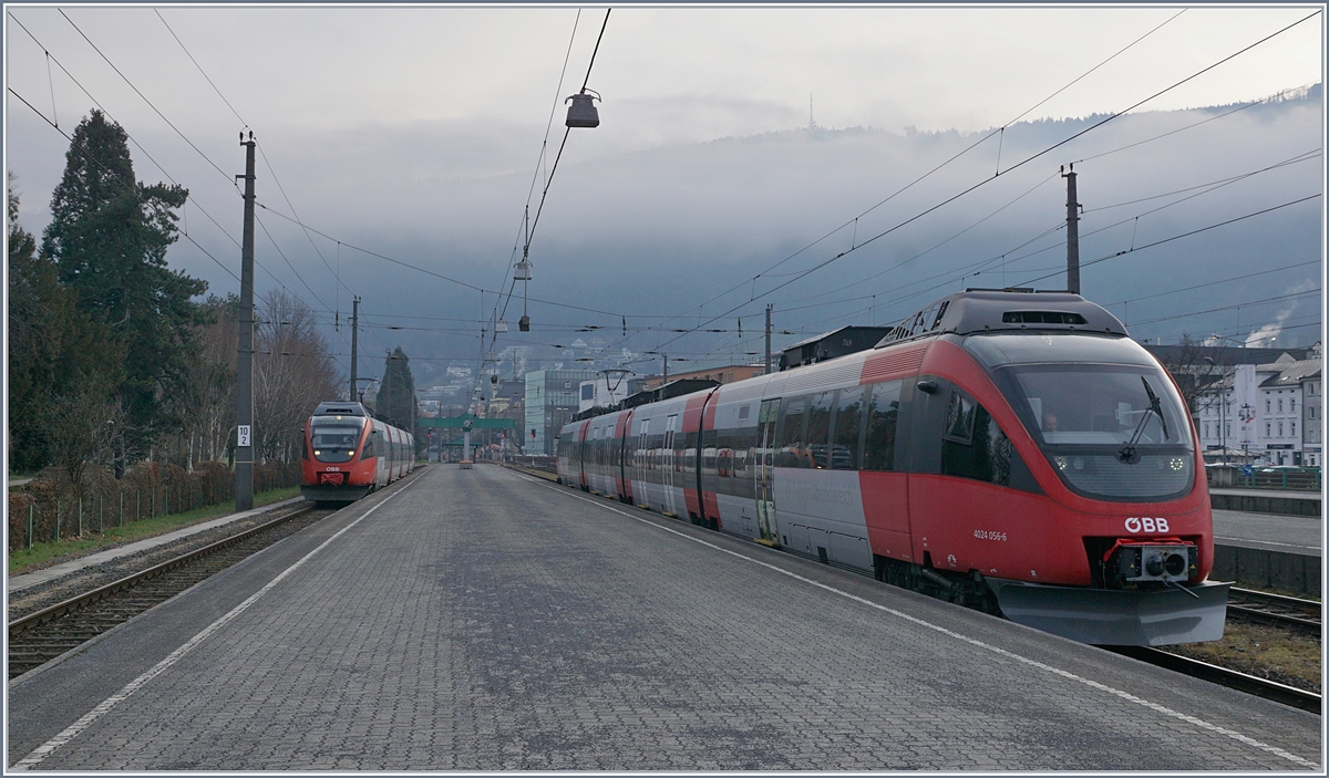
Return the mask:
M9 623L17 678L334 511L304 507Z

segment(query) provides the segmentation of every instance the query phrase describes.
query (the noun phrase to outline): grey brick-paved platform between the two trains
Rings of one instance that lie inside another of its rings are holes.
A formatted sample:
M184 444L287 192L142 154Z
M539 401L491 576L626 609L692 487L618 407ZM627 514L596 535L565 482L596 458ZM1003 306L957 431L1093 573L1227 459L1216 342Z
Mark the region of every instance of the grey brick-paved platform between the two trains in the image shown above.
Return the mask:
M1321 771L1321 720L496 466L9 689L11 769Z

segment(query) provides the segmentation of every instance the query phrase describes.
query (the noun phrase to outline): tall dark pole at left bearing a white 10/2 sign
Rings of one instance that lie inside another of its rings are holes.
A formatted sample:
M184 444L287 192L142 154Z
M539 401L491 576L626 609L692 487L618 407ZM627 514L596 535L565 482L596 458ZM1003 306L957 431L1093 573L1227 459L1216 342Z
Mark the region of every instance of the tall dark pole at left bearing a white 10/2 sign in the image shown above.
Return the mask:
M241 246L241 333L235 353L235 510L254 507L254 133L245 139L245 238Z

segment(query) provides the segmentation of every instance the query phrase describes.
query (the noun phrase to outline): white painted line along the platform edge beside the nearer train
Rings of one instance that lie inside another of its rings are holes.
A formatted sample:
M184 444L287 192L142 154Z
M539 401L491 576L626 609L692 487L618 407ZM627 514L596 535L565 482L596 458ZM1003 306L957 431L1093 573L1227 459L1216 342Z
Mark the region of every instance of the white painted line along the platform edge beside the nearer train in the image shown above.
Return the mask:
M540 483L540 482L534 482L534 483ZM545 483L545 485L548 485L548 486L556 486L557 487L557 485L549 485L549 483ZM558 487L558 490L561 493L563 493L563 487ZM1069 680L1069 681L1075 681L1078 684L1083 684L1086 686L1090 686L1091 689L1098 689L1099 692L1107 692L1108 694L1112 694L1115 697L1120 697L1122 700L1126 700L1127 702L1134 702L1135 705L1140 705L1143 708L1148 708L1150 710L1154 710L1156 713L1162 713L1163 716L1167 716L1170 718L1176 718L1179 721L1184 721L1187 724L1195 725L1195 726L1197 726L1200 729L1204 729L1204 730L1208 730L1208 732L1212 732L1212 733L1216 733L1216 734L1221 734L1221 736L1232 738L1232 739L1235 739L1235 741L1237 741L1240 743L1244 743L1244 745L1248 745L1248 746L1253 746L1253 747L1260 749L1263 751L1268 751L1271 754L1275 754L1276 757L1281 757L1284 759L1288 759L1289 762L1294 762L1297 765L1302 765L1302 766L1312 767L1312 769L1316 769L1316 770L1320 769L1320 765L1316 763L1316 762L1312 762L1309 759L1304 759L1304 758L1301 758L1301 757L1298 757L1298 755L1296 755L1296 754L1293 754L1290 751L1285 751L1285 750L1280 749L1278 746L1271 746L1268 743L1260 742L1260 741L1257 741L1257 739L1255 739L1255 738L1252 738L1249 736L1244 736L1244 734L1241 734L1239 732L1235 732L1235 730L1219 726L1216 724L1209 724L1208 721L1204 721L1203 718L1196 718L1196 717L1193 717L1191 714L1181 713L1181 712L1177 712L1177 710L1172 710L1171 708L1167 708L1164 705L1159 705L1158 702L1151 702L1148 700L1144 700L1143 697L1136 697L1135 694L1131 694L1130 692L1123 692L1120 689L1115 689L1112 686L1108 686L1106 684L1100 684L1098 681L1091 680L1091 678L1076 676L1075 673L1071 673L1069 670L1063 670L1061 668L1054 668L1054 666L1043 664L1043 662L1041 662L1038 660L1033 660L1033 659L1029 659L1029 657L1025 657L1025 656L1019 656L1018 653L1013 653L1010 651L1006 651L1005 648L999 648L999 647L983 643L981 640L975 640L973 637L969 637L966 635L961 635L961 633L954 632L952 629L948 629L945 627L941 627L941 625L933 624L930 621L925 621L922 619L918 619L917 616L910 616L909 613L905 613L902 611L896 611L894 608L888 608L886 605L882 605L882 604L878 604L878 603L873 603L872 600L860 597L857 595L851 595L849 592L845 592L843 589L837 589L837 588L835 588L832 585L824 584L821 582L812 580L809 578L804 578L804 576L801 576L801 575L799 575L796 572L784 570L784 568L777 567L775 564L771 564L768 562L762 562L760 559L754 559L754 558L747 556L744 554L739 554L738 551L730 551L728 548L722 548L722 547L719 547L719 546L716 546L714 543L708 543L706 540L702 540L700 538L694 538L694 536L688 535L687 532L679 532L678 530L674 530L671 527L661 526L661 524L658 524L658 523L655 523L655 522L653 522L650 519L646 519L643 516L634 516L633 514L630 514L627 511L619 510L619 508L617 508L614 506L605 505L603 502L594 501L594 499L587 499L585 497L581 497L579 494L573 494L573 493L565 493L565 494L567 494L567 497L571 497L574 499L579 499L582 502L589 502L589 503L599 506L599 507L602 507L605 510L614 511L615 514L625 515L625 516L627 516L630 519L638 520L638 522L641 522L643 524L649 524L649 526L655 527L658 530L663 530L666 532L672 532L674 535L678 535L679 538L684 538L687 540L692 540L694 543L700 543L702 546L708 546L708 547L711 547L711 548L714 548L716 551L720 551L723 554L728 554L730 556L738 556L739 559L743 559L746 562L751 562L752 564L758 564L760 567L766 567L766 568L773 570L775 572L779 572L781 575L787 575L787 576L789 576L789 578L792 578L795 580L800 580L803 583L811 584L811 585L817 587L820 589L825 589L825 591L828 591L831 593L840 595L841 597L847 597L847 599L853 600L856 603L861 603L864 605L868 605L869 608L876 608L876 609L882 611L885 613L890 613L892 616L904 619L905 621L909 621L912 624L917 624L918 627L925 627L925 628L932 629L934 632L940 632L941 635L945 635L948 637L954 637L956 640L961 640L961 641L968 643L970 645L974 645L977 648L982 648L985 651L990 651L991 653L1001 655L1001 656L1005 656L1005 657L1011 659L1014 661L1026 664L1026 665L1029 665L1031 668L1038 668L1041 670L1053 673L1054 676L1061 676L1061 677Z

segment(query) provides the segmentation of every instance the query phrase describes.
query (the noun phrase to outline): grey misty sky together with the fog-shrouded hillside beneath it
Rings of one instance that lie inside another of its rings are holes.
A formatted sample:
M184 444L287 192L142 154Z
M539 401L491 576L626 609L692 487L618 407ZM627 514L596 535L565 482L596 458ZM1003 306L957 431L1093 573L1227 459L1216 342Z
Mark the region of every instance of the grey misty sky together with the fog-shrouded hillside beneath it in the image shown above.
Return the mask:
M258 291L298 293L328 321L332 348L343 353L346 329L335 332L331 321L346 316L354 289L373 325L363 350L379 354L400 343L420 366L478 354L480 321L496 295L437 276L508 288L522 210L529 202L534 214L563 138L562 98L587 78L605 20L603 7L5 8L5 166L17 175L25 228L45 227L68 150L48 121L69 133L100 104L136 141L141 181L190 190L181 227L198 246L182 239L171 266L206 279L213 292L234 291L238 283L218 263L238 275L242 200L231 177L243 170L238 133L247 126L263 151L258 200L268 207L259 211ZM742 357L758 345L752 333L768 301L777 328L820 332L892 323L966 283L1042 276L1038 268L1065 262L1065 248L1054 246L1063 232L1030 244L1026 252L1049 250L1007 262L1005 276L993 275L998 263L986 276L961 279L966 267L1065 219L1057 173L1067 162L1079 161L1086 260L1320 195L1318 92L1156 138L1223 113L1183 109L1232 108L1322 81L1322 15L897 227L1086 129L1092 121L1084 117L1122 112L1316 8L615 8L587 82L603 97L602 123L570 133L532 242L529 295L541 301L528 309L537 331L516 333L518 285L505 315L512 332L497 348L599 335L614 349ZM537 165L550 118L548 155ZM1015 119L1025 123L900 191ZM1038 119L1057 121L1027 123ZM1114 151L1140 141L1148 142ZM1114 154L1095 158L1107 151ZM1123 204L1281 163L1159 212L1142 215L1185 195ZM1301 325L1286 329L1284 343L1309 343L1318 328L1305 324L1317 321L1321 295L1286 295L1320 285L1322 212L1320 196L1086 267L1086 296L1138 300L1108 305L1128 324L1251 303L1244 313L1132 324L1136 336L1244 340L1281 317ZM330 238L278 214L298 214ZM1087 235L1122 219L1131 223ZM781 273L888 230L743 305L793 277ZM1298 267L1142 300L1285 266ZM1035 285L1063 284L1050 277ZM1268 297L1282 299L1256 304ZM827 304L808 307L817 301ZM662 332L735 307L704 328L736 329L743 317L743 340L726 332L671 341L675 333ZM571 332L587 325L606 329Z

